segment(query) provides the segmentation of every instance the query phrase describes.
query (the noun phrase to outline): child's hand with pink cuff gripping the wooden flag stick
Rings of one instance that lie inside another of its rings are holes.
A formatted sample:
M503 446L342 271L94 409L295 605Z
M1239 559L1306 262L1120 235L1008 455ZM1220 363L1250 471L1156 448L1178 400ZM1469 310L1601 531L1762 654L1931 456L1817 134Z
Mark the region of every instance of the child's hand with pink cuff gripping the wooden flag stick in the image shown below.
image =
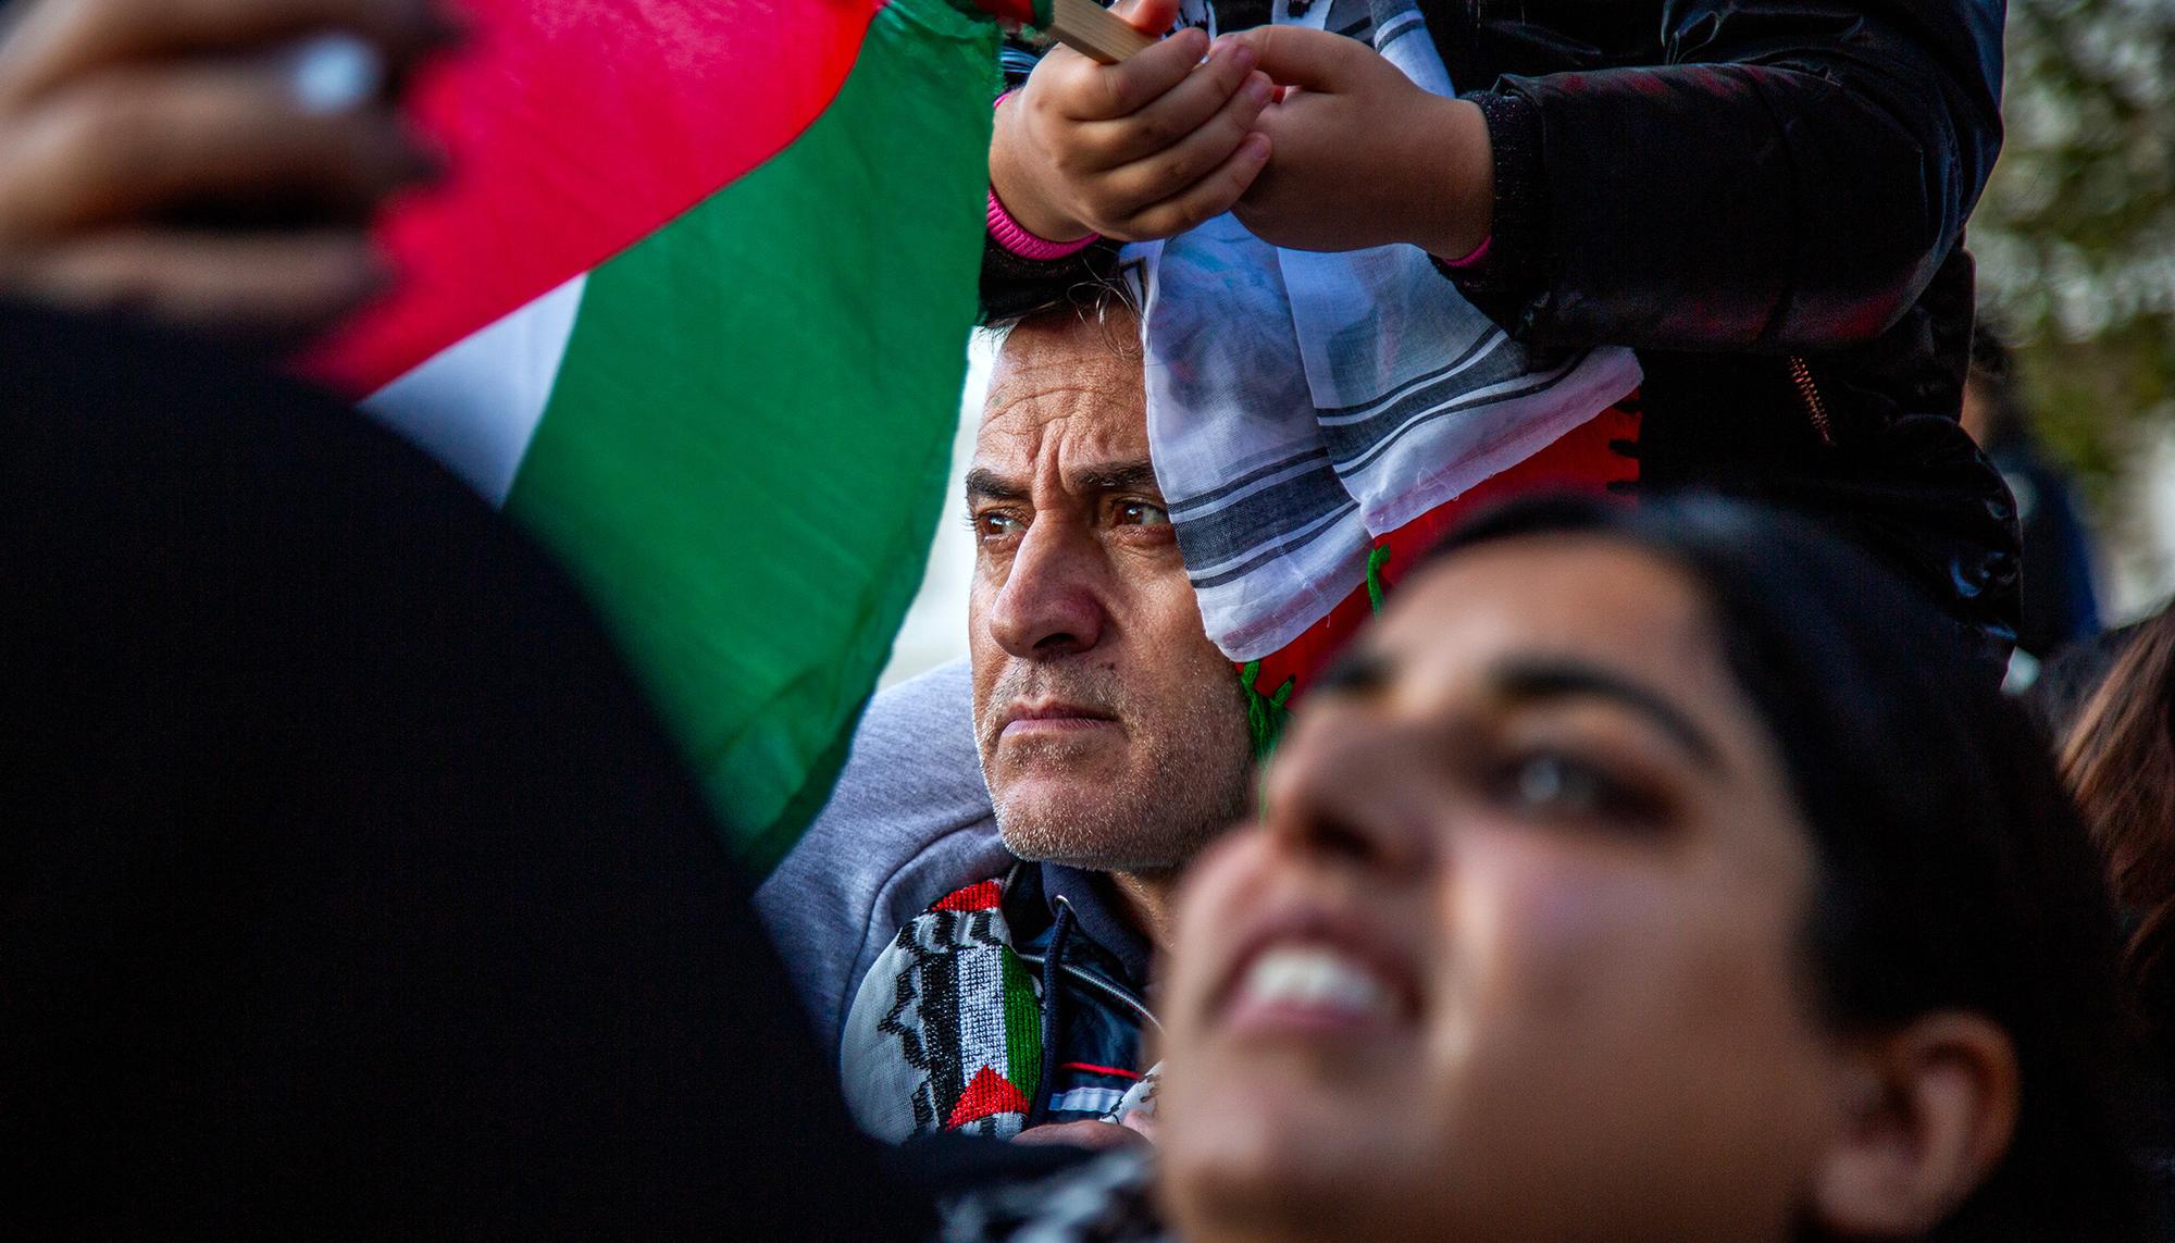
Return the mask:
M1131 0L1118 13L1161 33L1177 0ZM1255 52L1179 30L1120 65L1053 48L996 109L990 187L1035 237L1120 241L1170 237L1231 211L1268 159L1251 133L1268 104Z

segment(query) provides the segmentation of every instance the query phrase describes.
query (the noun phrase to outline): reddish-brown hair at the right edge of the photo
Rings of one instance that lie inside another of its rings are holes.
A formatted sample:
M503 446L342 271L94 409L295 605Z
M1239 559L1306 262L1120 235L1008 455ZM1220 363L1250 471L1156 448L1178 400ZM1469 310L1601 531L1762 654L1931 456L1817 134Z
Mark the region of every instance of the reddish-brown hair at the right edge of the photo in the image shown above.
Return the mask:
M2055 758L2127 915L2123 991L2164 1063L2175 1050L2175 611L2136 626Z

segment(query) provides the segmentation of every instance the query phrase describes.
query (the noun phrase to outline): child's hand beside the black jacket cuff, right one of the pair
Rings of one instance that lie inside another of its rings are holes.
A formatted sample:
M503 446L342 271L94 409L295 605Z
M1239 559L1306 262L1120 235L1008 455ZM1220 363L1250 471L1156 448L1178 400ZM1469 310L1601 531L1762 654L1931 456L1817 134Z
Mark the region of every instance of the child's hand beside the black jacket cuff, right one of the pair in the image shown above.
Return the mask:
M1231 41L1288 87L1255 122L1277 154L1233 209L1255 237L1292 250L1407 241L1442 259L1488 239L1494 154L1475 104L1422 91L1342 35L1259 26Z

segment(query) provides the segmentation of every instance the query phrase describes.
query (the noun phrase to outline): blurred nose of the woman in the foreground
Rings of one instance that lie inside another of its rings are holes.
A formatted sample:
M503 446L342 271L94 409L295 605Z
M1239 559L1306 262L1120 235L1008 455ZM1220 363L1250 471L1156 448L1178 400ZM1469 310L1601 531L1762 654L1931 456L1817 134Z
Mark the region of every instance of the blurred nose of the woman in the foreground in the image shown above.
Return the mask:
M1270 763L1264 826L1296 854L1416 876L1440 850L1420 776L1431 767L1425 743L1366 708L1318 713Z

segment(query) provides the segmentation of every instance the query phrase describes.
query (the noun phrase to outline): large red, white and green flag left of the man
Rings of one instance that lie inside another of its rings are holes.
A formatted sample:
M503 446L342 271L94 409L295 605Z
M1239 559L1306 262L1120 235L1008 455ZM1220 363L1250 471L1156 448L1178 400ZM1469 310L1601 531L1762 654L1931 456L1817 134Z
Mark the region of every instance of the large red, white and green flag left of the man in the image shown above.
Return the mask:
M942 506L998 30L946 0L468 0L455 180L315 369L550 543L755 871Z

